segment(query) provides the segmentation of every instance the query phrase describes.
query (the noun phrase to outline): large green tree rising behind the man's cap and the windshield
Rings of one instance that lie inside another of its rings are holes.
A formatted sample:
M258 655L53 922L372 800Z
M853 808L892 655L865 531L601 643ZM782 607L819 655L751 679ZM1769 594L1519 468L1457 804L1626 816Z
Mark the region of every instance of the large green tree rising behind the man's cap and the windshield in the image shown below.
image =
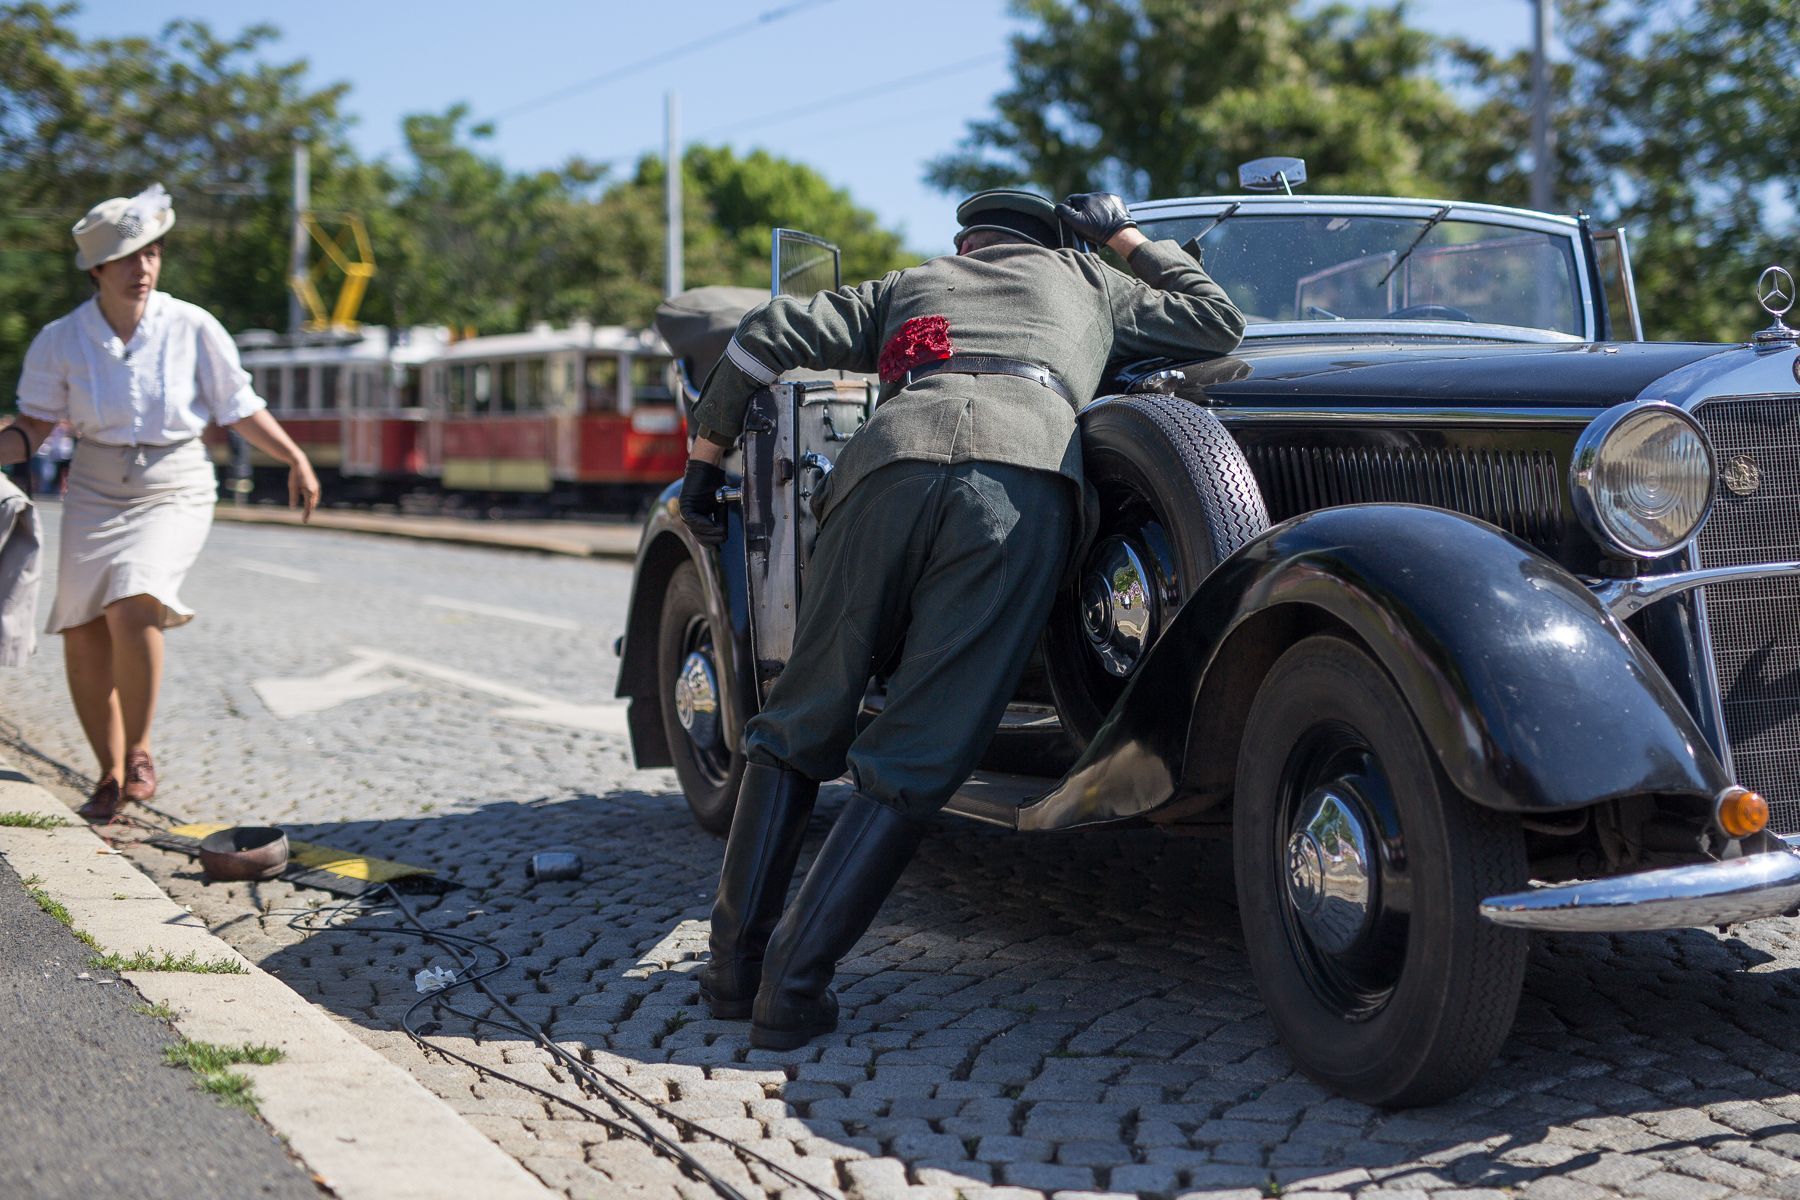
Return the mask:
M1237 191L1237 166L1307 158L1312 191L1436 194L1467 175L1471 113L1404 5L1013 0L1013 86L927 178L1132 198ZM1481 166L1487 166L1485 162Z

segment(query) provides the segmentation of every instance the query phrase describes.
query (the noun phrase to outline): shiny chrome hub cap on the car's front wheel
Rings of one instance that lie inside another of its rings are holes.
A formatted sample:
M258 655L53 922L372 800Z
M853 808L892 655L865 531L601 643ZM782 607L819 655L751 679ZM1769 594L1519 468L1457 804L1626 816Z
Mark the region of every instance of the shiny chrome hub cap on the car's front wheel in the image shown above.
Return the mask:
M1287 838L1287 900L1325 954L1345 954L1368 928L1375 900L1368 829L1355 806L1330 788L1305 799L1300 826Z

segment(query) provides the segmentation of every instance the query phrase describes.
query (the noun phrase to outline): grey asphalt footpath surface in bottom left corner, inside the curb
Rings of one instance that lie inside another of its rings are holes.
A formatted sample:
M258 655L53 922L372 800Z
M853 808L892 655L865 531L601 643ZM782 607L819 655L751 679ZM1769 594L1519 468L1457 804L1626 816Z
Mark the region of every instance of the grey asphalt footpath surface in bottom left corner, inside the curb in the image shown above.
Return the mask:
M175 1034L0 860L0 1196L238 1200L324 1193L256 1117L167 1067Z

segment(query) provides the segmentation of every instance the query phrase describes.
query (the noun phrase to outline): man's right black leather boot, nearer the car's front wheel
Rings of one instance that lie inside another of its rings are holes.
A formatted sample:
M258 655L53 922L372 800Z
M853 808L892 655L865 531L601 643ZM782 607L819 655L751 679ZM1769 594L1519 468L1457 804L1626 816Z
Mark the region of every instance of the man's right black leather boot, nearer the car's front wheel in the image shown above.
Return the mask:
M866 795L851 795L769 941L751 1045L792 1051L837 1029L832 975L868 932L923 826Z

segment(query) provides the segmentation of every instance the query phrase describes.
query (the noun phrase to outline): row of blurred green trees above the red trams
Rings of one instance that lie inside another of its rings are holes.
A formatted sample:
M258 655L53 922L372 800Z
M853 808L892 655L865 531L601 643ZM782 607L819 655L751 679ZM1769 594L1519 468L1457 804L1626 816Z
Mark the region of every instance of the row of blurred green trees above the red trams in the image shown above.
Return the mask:
M346 131L349 85L283 61L266 25L220 38L200 22L81 40L74 5L0 5L0 378L31 336L90 293L68 228L95 201L162 182L176 201L164 286L230 329L286 327L292 160L311 157L315 212L355 212L376 275L362 320L509 331L536 320L643 324L662 295L662 162L628 178L569 160L509 171L464 106L403 122L394 162ZM806 166L695 146L686 153L689 282L769 282L770 225L841 239L846 272L911 261L842 189ZM315 254L320 291L335 291Z

